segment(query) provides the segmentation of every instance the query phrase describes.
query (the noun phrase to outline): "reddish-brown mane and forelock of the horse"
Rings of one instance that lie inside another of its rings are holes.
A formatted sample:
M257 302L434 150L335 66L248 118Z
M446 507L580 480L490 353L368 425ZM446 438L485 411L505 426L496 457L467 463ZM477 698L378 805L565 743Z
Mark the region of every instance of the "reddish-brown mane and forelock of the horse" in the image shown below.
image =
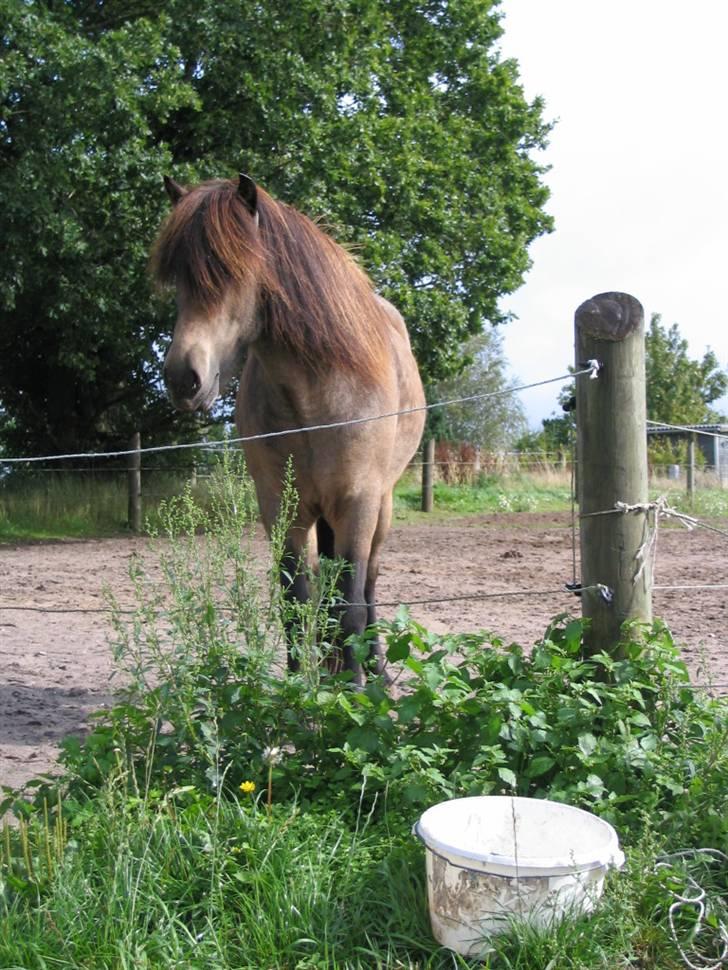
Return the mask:
M258 287L265 335L314 370L381 375L387 312L353 257L307 216L258 188L258 226L237 182L183 195L160 231L152 271L202 312L231 286Z

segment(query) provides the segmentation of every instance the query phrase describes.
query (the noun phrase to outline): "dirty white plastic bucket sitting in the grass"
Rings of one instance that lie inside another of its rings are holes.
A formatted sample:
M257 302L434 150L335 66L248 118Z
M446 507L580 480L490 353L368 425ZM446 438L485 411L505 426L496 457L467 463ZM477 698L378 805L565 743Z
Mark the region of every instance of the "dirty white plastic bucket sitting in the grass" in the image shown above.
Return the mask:
M624 864L608 822L546 799L455 798L413 831L427 849L432 932L465 956L514 919L546 928L591 912L607 870Z

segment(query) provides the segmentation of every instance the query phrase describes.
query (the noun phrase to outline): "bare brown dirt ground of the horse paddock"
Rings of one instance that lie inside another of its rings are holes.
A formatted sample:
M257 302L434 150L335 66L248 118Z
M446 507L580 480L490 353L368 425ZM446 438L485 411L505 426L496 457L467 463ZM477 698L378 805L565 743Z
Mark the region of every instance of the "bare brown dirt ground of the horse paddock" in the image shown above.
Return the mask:
M725 525L724 525L725 527ZM661 528L655 583L728 582L725 538ZM81 733L89 713L111 701L112 661L102 585L131 605L129 558L141 539L0 547L0 784L17 786L52 770L58 743ZM453 523L395 524L383 556L378 599L409 601L543 591L504 599L413 605L437 632L491 630L506 642L535 642L557 613L578 613L563 589L572 575L569 517L492 515ZM261 537L260 554L265 557ZM654 612L683 645L696 683L728 692L728 595L723 590L656 590ZM19 610L8 607L33 607ZM36 611L37 610L37 611ZM392 615L394 608L380 610Z

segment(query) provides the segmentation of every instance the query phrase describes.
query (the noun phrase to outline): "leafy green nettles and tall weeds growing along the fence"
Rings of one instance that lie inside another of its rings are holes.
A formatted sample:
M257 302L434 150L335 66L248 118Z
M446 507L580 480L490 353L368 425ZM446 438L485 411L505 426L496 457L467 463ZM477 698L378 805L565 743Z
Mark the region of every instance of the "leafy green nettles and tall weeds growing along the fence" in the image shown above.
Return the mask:
M277 804L388 806L411 819L444 798L513 792L584 805L622 831L648 820L706 844L726 838L728 706L690 687L664 626L626 631L622 659L586 659L581 621L566 616L524 649L433 634L401 608L355 644L363 661L379 635L388 661L356 691L321 664L341 564L323 564L305 606L280 592L295 502L289 476L267 567L238 459L223 458L209 508L185 493L162 510L156 558L132 564L137 605L115 614L122 702L83 743L66 742L67 799L114 774L137 789L215 794L270 780Z

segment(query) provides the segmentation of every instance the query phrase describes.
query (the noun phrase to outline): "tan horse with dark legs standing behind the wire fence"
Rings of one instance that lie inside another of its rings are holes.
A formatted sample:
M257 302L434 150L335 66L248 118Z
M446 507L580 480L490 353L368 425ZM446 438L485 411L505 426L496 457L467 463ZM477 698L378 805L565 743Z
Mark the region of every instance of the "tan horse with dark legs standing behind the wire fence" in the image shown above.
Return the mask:
M393 490L425 420L407 328L344 247L247 175L190 188L164 182L172 207L151 268L176 291L163 366L170 400L182 411L209 409L240 377L235 420L253 439L243 448L268 537L293 464L298 508L281 562L284 595L308 599L302 563L344 561L338 655L361 686L349 637L376 622ZM366 420L380 415L388 416ZM255 440L321 425L338 426ZM298 670L290 638L287 654ZM369 659L381 672L376 639Z

